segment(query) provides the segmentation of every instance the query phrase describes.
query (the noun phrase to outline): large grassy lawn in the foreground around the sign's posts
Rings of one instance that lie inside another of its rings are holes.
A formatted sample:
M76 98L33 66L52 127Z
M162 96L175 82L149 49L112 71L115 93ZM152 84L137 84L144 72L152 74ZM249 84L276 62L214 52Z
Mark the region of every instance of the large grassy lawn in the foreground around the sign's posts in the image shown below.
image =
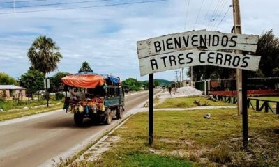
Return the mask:
M279 117L249 111L248 122L246 152L236 109L156 111L150 148L148 113L137 113L112 134L121 141L86 166L279 166Z

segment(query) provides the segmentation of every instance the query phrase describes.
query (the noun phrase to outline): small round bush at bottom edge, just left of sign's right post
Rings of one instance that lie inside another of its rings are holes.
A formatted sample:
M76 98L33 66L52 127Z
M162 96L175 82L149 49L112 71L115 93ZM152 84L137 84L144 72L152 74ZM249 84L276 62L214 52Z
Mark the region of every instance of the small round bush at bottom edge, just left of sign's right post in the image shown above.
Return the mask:
M231 155L225 148L219 148L217 150L211 151L208 157L210 161L220 164L225 164L232 161Z

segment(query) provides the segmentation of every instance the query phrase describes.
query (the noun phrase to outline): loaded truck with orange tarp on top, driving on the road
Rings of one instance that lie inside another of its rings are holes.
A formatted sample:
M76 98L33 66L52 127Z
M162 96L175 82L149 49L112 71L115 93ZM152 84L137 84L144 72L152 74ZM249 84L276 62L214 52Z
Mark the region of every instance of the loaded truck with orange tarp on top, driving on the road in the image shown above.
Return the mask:
M112 118L123 117L125 93L119 77L82 72L61 81L66 92L63 109L73 113L75 125L82 125L84 118L110 125Z

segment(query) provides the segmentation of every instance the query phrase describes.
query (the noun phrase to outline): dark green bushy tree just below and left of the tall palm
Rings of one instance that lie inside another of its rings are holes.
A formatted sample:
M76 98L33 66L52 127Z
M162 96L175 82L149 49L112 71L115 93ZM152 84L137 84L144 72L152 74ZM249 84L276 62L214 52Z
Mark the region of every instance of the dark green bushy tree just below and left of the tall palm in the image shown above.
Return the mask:
M20 77L20 86L27 88L29 93L36 93L37 90L43 90L44 88L44 74L33 67L27 71L27 73L22 74Z

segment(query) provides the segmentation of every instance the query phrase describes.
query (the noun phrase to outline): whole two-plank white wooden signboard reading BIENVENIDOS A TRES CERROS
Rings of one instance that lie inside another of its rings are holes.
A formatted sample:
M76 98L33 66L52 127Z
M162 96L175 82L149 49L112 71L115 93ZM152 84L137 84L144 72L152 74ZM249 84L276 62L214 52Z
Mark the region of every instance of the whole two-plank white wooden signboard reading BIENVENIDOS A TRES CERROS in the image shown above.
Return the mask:
M255 52L258 40L258 35L205 30L142 40L137 42L140 74L143 76L195 65L215 65L255 71L258 69L260 56L243 56L227 51Z

